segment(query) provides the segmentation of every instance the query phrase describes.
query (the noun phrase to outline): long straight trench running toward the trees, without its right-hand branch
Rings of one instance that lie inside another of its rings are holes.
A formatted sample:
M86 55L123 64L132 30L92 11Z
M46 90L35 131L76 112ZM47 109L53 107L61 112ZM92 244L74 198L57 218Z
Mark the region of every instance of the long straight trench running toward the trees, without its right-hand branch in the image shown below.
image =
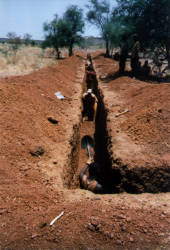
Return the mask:
M107 110L103 103L103 95L98 89L97 77L92 61L91 66L94 72L92 80L88 79L86 70L82 89L83 93L89 88L92 89L98 99L96 120L81 121L79 127L75 129L76 135L73 138L71 155L71 174L67 181L67 187L69 189L80 188L79 175L88 160L87 151L81 148L81 139L83 136L88 135L94 140L94 148L91 148L91 154L97 168L95 179L103 186L104 193L113 193L117 191L115 186L119 184L121 179L120 171L112 170L112 160L108 152L110 140L106 129Z

